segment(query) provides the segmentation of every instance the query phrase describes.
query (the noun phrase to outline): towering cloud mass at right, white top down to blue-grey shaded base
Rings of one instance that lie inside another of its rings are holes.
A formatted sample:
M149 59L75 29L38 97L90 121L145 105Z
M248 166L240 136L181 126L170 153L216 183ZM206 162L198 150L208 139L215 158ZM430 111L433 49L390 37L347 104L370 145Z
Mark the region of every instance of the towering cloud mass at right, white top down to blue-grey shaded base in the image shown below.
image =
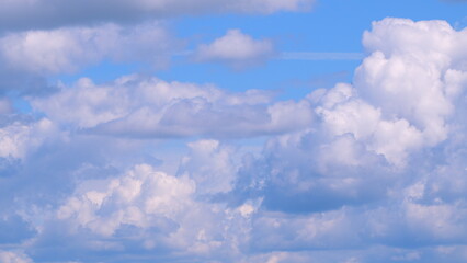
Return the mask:
M447 245L452 253L419 250L411 260L462 262L451 245L466 242L466 33L398 19L365 33L371 55L353 85L308 96L319 126L272 139L240 170L237 191L282 213L254 228L258 240L271 238L258 249Z

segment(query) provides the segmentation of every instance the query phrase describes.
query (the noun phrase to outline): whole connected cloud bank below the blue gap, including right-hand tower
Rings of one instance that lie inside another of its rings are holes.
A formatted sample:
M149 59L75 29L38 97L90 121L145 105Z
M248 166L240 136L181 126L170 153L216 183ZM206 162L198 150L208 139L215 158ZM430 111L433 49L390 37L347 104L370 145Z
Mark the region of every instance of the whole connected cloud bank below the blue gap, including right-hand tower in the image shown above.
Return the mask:
M0 259L465 262L466 42L375 22L353 83L298 102L140 76L32 98L43 121L0 130L0 224L22 229ZM190 140L173 171L145 157L162 137Z

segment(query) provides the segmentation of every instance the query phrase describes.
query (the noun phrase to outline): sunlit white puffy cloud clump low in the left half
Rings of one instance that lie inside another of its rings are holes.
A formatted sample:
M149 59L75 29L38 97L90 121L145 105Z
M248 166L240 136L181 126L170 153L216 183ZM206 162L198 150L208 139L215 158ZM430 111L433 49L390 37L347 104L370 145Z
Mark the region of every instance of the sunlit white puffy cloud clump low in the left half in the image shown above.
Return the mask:
M57 218L70 218L93 232L112 236L124 225L148 228L158 222L147 216L160 217L162 222L181 216L193 205L190 196L195 191L194 182L187 178L156 172L149 165L135 167L134 171L104 185L103 191L82 186L83 193L68 199L57 211Z

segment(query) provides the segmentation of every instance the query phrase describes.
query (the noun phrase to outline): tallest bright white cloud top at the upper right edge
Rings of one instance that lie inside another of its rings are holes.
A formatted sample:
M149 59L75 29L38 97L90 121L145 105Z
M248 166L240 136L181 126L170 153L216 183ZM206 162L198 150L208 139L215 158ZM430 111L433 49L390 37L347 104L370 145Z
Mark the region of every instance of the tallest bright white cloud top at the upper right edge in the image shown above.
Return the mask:
M444 140L445 119L465 85L467 31L444 21L385 19L363 44L372 55L355 75L360 94L385 116L408 119L428 144Z

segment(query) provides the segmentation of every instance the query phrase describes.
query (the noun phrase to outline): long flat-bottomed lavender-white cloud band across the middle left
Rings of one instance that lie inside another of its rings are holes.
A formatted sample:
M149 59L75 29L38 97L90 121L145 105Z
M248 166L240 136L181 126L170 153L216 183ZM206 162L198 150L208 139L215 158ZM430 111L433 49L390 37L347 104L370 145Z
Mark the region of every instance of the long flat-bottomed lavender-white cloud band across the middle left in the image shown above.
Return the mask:
M248 137L300 129L311 122L307 101L271 104L271 93L227 93L213 85L127 76L96 85L81 79L32 100L52 119L91 133L129 137ZM299 112L291 119L288 114Z

